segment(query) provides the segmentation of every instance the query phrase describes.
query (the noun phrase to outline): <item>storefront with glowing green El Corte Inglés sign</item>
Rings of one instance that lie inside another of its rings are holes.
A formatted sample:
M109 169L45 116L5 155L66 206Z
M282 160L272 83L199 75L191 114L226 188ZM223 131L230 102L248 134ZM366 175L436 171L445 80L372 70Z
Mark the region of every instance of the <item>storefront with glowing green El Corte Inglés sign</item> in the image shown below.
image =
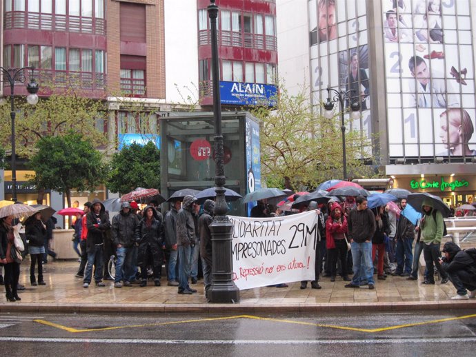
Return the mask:
M428 192L441 197L448 206L476 201L473 163L387 165L386 174L393 179L393 188Z

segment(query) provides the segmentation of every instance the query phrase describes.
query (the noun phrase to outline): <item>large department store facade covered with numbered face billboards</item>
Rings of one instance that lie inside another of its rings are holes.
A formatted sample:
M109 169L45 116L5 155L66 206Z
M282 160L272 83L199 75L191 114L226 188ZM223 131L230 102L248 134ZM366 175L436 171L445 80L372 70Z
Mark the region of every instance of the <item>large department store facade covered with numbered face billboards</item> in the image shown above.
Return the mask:
M365 159L393 187L472 202L475 11L469 0L279 0L279 74L295 90L304 78L316 110L328 86L350 90L361 115L348 130L373 140ZM454 184L442 190L442 179Z

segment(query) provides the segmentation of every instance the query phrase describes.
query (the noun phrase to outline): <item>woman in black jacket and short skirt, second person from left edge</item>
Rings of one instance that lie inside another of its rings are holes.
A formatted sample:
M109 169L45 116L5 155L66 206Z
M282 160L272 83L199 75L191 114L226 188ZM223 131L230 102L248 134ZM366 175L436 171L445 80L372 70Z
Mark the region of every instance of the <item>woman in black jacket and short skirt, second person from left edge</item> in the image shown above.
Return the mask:
M45 254L46 225L41 221L41 213L37 212L25 222L25 234L30 253L30 283L33 286L46 285L43 281L43 254ZM34 267L38 261L38 283L34 276Z

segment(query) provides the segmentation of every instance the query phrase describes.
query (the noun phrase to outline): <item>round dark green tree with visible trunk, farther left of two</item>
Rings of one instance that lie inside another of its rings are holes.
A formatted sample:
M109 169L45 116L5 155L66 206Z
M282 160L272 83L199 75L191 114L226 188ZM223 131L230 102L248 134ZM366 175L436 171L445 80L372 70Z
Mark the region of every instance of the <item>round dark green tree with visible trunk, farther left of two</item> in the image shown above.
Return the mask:
M28 165L35 171L30 182L39 187L63 192L71 207L71 190L92 191L106 179L102 154L81 134L44 136Z

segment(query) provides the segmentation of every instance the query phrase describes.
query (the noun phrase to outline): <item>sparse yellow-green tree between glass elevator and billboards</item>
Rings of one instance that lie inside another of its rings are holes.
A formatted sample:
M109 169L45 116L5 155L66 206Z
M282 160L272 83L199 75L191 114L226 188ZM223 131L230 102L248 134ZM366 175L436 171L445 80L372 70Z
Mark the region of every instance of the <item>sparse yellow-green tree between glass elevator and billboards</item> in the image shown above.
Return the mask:
M282 86L276 103L274 108L259 106L252 110L263 121L261 172L270 187L312 188L328 179L341 179L339 114L333 119L321 116L318 108L312 108L306 88L292 96ZM360 132L346 131L349 177L370 176L371 171L364 165L364 159L370 156L366 147L371 143Z

